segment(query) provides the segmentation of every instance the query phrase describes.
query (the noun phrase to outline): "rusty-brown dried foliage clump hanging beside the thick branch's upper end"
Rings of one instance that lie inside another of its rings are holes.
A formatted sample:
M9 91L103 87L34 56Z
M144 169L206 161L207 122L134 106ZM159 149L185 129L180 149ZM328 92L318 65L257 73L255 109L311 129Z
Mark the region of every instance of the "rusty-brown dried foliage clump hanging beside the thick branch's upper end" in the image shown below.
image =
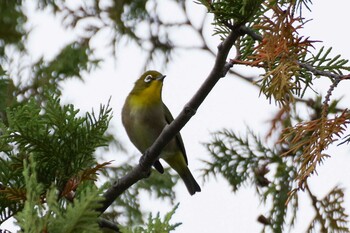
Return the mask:
M286 10L278 6L272 9L271 18L263 16L261 23L254 26L263 32L263 40L250 57L252 61L246 64L266 69L260 80L261 92L267 98L274 97L277 103L286 105L294 101L293 94L300 90L300 81L293 79L299 71L297 61L314 41L299 37L298 30L305 22L300 17L294 17L291 6Z

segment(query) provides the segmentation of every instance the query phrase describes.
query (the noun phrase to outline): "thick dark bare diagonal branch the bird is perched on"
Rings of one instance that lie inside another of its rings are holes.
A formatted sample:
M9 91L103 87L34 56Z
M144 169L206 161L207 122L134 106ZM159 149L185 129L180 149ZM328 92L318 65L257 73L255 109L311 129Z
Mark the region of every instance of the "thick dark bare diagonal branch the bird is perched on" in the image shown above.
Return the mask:
M102 202L102 207L98 208L98 211L103 213L126 189L149 175L150 169L153 163L159 158L161 150L196 113L198 107L201 105L219 79L226 75L228 67L231 66L228 65L226 59L230 49L234 45L237 38L241 35L240 26L240 24L235 25L235 30L232 30L227 38L218 46L218 54L216 56L214 67L200 89L185 105L178 117L176 117L171 124L164 128L153 145L141 157L139 164L127 175L114 182L112 187L104 193L105 200Z

